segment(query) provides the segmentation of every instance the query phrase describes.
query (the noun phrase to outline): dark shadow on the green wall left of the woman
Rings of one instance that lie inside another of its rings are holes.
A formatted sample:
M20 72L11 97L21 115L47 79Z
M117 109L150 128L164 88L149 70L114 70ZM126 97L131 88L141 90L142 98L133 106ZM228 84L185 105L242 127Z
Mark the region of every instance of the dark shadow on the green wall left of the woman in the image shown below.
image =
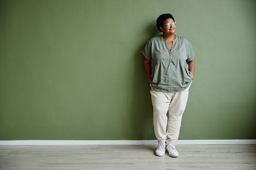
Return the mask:
M148 24L145 30L142 31L144 31L143 34L146 32L150 38L160 34L156 29L155 21ZM144 73L142 63L143 55L141 53L148 40L145 40L133 55L133 102L130 123L133 137L136 140L156 140L153 129L153 107L150 96L151 87Z

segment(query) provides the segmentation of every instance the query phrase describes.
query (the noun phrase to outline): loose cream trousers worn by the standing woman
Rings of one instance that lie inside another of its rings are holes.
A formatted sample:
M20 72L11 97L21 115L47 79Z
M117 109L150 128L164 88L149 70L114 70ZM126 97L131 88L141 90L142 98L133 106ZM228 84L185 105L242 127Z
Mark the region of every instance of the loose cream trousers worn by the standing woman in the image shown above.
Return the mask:
M151 88L154 132L158 142L176 143L180 134L182 115L186 108L189 87L178 93L162 93ZM167 118L167 111L169 117Z

